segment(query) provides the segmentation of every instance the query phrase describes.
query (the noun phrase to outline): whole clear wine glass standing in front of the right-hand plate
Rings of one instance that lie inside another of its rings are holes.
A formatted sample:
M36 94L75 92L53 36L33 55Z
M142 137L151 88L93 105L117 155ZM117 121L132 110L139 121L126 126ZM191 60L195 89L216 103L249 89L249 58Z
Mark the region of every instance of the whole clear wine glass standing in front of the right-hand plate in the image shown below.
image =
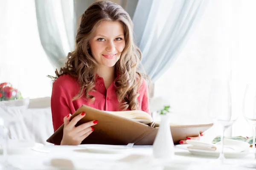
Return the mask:
M237 112L232 112L230 83L227 79L213 79L208 101L208 116L214 125L222 127L220 155L213 161L196 162L189 170L218 170L237 167L236 162L227 161L224 156L224 132L238 118ZM219 146L218 144L216 146Z

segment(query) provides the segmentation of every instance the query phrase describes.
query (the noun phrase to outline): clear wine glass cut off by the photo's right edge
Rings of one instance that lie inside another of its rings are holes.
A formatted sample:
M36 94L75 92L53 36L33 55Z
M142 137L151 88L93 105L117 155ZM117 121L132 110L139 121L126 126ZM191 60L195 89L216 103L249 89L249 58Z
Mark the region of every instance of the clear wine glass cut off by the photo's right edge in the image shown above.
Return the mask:
M247 84L244 91L242 112L244 118L253 127L252 152L255 153L255 131L256 131L256 84Z

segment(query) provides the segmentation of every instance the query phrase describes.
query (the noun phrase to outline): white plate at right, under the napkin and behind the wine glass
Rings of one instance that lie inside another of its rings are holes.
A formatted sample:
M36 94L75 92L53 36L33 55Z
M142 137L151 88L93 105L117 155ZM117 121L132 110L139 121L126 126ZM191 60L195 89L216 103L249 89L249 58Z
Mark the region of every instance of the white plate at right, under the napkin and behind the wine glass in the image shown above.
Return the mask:
M197 156L211 156L211 157L218 157L219 152L211 151L211 150L198 150L198 149L189 149L188 146L192 146L191 144L177 144L176 147L180 149L189 150L190 153ZM224 156L226 158L242 158L249 154L248 150L244 150L243 152L224 152Z

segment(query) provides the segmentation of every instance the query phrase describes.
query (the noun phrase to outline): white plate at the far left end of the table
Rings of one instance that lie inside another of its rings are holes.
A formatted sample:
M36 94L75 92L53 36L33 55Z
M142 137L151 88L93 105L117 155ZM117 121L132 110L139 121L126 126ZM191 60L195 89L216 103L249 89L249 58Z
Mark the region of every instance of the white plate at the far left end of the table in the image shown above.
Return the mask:
M5 141L1 141L0 144L0 154L3 153L2 144ZM41 147L44 144L36 143L36 142L29 142L24 140L17 140L17 139L9 139L8 140L8 154L17 154L17 153L25 153L30 151L32 147Z

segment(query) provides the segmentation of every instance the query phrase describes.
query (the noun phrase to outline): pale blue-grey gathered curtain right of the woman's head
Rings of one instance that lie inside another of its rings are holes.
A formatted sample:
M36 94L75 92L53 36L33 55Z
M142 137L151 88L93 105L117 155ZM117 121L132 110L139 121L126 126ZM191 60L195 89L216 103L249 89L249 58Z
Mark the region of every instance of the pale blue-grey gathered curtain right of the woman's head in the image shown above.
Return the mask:
M206 0L139 0L134 34L142 64L156 81L176 59L206 8Z

